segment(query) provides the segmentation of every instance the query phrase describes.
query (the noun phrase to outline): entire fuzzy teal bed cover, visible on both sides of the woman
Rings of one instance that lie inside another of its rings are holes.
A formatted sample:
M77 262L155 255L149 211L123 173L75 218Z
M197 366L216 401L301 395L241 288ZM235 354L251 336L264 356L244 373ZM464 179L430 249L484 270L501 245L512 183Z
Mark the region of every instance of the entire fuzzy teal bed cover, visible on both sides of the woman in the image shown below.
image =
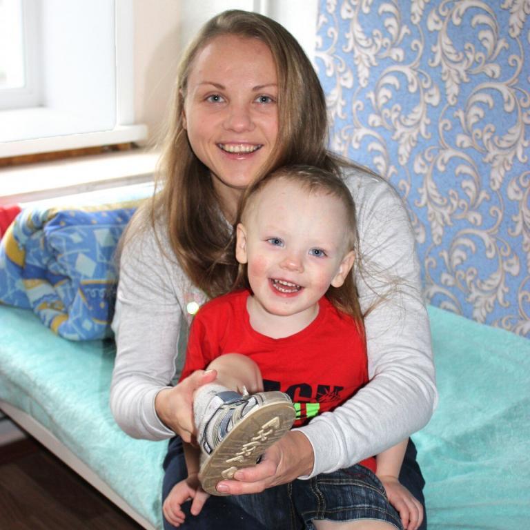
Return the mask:
M429 308L440 403L413 436L429 530L530 524L530 341ZM108 398L112 342L69 342L0 306L0 399L32 415L131 507L161 527L167 442L120 431Z

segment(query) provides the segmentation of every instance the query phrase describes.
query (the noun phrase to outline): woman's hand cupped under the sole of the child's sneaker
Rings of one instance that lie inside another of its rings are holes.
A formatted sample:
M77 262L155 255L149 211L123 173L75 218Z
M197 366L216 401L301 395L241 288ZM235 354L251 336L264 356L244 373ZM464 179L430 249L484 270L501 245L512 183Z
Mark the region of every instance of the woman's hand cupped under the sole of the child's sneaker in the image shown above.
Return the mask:
M254 467L239 469L235 480L223 480L217 491L230 495L260 493L266 488L292 482L313 471L313 446L300 431L289 431L264 453Z

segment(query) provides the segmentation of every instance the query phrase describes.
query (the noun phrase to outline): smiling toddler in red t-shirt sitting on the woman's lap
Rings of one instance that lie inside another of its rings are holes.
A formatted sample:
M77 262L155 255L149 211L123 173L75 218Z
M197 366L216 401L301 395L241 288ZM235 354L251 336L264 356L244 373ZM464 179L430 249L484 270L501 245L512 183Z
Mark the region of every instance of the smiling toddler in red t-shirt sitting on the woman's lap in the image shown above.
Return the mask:
M293 422L333 411L368 382L345 184L316 168L282 168L246 190L237 218L237 290L205 304L190 330L182 378L208 367L217 380L195 393L201 465L199 450L185 446L188 478L164 502L175 526L186 500L197 515L219 481L256 464ZM414 530L421 505L397 480L405 448L406 440L360 464Z

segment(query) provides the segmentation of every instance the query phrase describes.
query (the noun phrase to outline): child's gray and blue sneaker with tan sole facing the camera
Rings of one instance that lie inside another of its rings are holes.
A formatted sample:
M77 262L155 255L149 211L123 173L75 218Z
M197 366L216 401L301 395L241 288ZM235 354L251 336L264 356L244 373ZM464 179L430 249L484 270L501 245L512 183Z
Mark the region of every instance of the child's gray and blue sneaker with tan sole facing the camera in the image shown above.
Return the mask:
M217 482L257 464L266 449L291 429L295 408L283 392L217 396L224 402L199 431L199 480L204 491L226 495L215 489Z

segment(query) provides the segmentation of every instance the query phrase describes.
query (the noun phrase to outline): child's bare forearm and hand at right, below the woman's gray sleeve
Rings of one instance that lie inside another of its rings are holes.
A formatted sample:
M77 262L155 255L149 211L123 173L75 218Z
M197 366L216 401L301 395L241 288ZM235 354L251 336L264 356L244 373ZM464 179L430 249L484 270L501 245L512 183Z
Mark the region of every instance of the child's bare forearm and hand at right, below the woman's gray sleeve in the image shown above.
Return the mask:
M400 514L405 530L416 530L423 520L423 508L420 502L400 484L401 465L406 451L408 438L403 442L386 449L375 457L377 461L377 478L382 482L389 502Z

